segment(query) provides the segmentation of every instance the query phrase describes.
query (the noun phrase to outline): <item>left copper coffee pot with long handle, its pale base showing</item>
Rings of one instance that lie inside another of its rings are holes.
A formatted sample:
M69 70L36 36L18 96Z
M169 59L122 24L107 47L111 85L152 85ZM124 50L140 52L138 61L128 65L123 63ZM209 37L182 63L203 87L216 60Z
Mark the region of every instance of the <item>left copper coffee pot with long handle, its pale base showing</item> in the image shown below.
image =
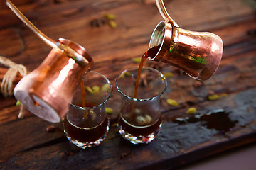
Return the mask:
M48 38L28 21L18 8L6 0L6 5L53 49L38 68L23 77L14 88L14 96L33 114L53 123L60 122L68 113L75 87L82 75L93 65L85 48L75 42Z

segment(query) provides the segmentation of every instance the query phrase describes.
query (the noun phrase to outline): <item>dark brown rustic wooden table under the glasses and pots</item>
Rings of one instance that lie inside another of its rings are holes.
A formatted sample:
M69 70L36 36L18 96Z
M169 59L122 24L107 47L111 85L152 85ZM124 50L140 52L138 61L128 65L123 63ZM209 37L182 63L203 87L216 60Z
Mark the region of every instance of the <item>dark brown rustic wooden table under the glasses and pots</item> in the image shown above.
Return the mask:
M218 71L198 82L174 67L146 62L159 71L172 72L161 98L163 126L149 145L132 145L122 139L114 124L120 106L114 79L132 60L147 50L151 33L162 20L154 1L131 0L22 0L14 4L50 38L67 38L85 47L95 61L93 70L105 74L113 86L107 106L111 127L98 147L79 149L65 138L61 123L48 123L35 115L19 119L14 97L0 95L0 169L172 169L256 141L256 17L255 1L165 1L172 18L187 30L210 31L223 38L223 59ZM106 13L116 16L91 25ZM0 1L0 53L32 71L50 52L31 30ZM218 100L208 96L218 94ZM167 98L178 101L170 106ZM188 108L197 112L186 114ZM225 112L205 121L178 122L210 111ZM233 123L230 130L216 125ZM46 128L54 125L53 132Z

